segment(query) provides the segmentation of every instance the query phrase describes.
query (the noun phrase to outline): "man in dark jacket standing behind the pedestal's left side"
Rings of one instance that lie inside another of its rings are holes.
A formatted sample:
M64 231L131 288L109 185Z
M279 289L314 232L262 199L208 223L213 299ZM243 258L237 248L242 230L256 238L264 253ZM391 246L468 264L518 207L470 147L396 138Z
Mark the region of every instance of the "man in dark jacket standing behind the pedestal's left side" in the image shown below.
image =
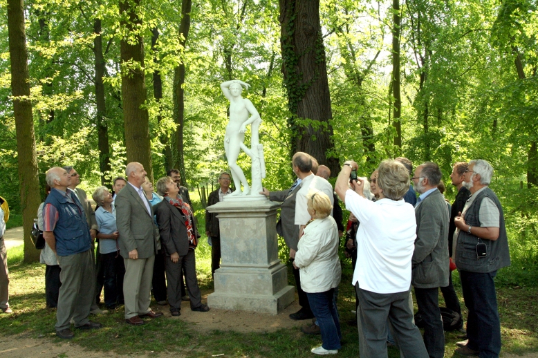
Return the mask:
M230 173L223 171L219 176L219 189L212 191L207 198L207 206L215 205L224 200L224 197L232 193L230 188ZM219 230L219 218L216 213L205 210L205 234L211 244L211 274L221 267L221 233Z

